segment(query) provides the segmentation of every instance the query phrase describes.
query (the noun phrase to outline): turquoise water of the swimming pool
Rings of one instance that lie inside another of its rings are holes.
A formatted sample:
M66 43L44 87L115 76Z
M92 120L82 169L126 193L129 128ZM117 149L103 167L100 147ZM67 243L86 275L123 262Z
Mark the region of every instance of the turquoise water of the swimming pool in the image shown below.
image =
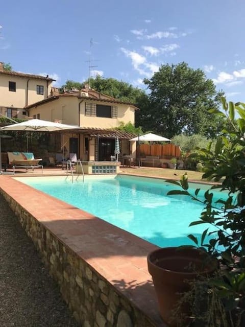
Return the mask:
M17 179L161 247L193 244L187 235L200 238L209 227L188 227L198 220L203 205L187 196L167 196L177 186L162 180L120 175L85 176L84 182L74 183L64 177ZM203 189L203 196L209 186L192 184L192 192L197 188ZM225 197L218 191L213 193L216 199Z

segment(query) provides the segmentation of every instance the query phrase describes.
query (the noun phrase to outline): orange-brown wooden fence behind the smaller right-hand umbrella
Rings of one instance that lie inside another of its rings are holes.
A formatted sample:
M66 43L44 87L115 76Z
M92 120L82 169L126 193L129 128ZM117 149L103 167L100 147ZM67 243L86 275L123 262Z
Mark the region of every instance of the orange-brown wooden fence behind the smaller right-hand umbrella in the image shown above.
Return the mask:
M152 155L159 157L180 157L180 147L174 144L140 144L139 152L141 156Z

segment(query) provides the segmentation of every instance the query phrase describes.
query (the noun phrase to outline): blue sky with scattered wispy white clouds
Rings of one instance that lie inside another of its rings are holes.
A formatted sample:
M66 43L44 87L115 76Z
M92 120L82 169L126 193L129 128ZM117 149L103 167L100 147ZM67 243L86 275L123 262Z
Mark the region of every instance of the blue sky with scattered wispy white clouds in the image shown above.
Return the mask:
M142 88L161 64L186 61L245 102L244 14L243 0L5 1L0 61L62 85L88 78L90 52L92 75Z

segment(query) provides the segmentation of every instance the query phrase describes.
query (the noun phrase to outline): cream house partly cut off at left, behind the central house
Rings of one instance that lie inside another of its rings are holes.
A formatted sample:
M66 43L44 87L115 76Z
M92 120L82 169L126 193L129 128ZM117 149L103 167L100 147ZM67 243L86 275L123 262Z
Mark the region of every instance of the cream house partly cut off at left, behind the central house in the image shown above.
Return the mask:
M25 118L28 113L24 107L50 96L53 81L48 76L6 71L0 62L0 114Z

